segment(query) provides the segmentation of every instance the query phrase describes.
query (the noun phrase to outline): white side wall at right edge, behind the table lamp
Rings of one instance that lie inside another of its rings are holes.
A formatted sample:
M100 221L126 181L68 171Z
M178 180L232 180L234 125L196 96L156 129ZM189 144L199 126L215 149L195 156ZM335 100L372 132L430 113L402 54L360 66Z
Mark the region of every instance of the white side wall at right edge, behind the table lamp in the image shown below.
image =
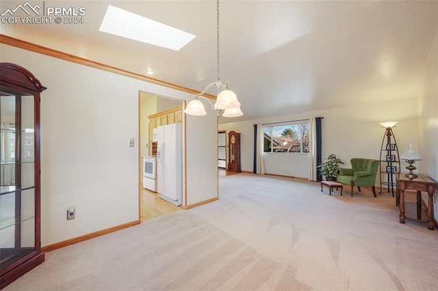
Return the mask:
M438 31L428 58L424 86L420 94L420 161L422 172L438 182ZM438 220L437 192L433 199L435 219ZM422 193L427 202L428 195Z

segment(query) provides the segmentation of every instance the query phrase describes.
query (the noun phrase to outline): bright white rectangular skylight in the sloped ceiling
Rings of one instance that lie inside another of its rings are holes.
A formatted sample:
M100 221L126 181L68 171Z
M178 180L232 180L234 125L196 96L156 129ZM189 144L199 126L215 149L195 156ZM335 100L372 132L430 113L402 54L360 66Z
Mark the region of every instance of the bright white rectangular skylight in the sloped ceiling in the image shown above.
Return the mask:
M112 5L108 6L99 31L170 48L174 51L179 51L185 44L196 38L191 33Z

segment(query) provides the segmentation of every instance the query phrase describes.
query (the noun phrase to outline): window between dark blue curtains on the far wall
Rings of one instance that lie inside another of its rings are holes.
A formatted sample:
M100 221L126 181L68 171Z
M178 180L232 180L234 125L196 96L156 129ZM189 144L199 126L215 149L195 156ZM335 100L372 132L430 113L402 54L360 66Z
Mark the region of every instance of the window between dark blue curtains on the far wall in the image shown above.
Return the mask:
M309 152L309 121L263 126L263 152Z

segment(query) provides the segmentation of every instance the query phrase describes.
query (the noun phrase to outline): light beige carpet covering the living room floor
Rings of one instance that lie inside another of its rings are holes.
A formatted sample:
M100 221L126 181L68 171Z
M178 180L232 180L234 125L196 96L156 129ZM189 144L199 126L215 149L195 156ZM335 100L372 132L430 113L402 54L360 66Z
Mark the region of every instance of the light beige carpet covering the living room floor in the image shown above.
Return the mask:
M46 253L5 290L438 290L438 231L400 224L389 193L250 174L219 184L216 202Z

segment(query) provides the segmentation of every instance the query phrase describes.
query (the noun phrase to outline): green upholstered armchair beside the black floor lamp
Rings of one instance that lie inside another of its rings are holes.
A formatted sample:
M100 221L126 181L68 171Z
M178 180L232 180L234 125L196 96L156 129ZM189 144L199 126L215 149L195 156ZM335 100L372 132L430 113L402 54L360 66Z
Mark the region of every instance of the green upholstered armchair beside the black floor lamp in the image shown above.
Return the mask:
M354 186L357 186L359 192L361 191L361 186L369 186L372 188L374 197L377 197L375 184L378 163L380 162L369 158L352 158L350 163L352 169L340 168L337 182L351 185L351 197L353 197Z

